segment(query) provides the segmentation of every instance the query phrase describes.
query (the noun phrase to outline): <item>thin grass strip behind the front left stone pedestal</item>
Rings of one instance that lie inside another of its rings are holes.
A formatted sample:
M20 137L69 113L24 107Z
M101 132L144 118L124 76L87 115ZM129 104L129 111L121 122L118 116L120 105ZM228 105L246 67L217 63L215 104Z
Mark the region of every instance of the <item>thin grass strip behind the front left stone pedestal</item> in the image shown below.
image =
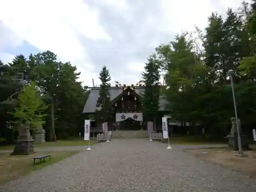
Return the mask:
M58 140L58 142L45 142L40 144L34 144L35 148L44 148L44 147L55 147L55 146L85 146L88 145L89 141L84 140ZM95 144L94 140L90 141L90 145ZM2 145L0 150L13 150L14 145Z

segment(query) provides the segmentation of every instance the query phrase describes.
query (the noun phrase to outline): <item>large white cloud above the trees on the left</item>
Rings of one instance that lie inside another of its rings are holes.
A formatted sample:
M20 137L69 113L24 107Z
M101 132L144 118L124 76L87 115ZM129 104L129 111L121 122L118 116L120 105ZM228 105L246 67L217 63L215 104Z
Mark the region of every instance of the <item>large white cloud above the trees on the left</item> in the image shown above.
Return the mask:
M80 37L111 40L99 25L97 10L81 0L1 1L0 20L13 33L9 34L11 39L16 36L15 39L27 40L41 51L53 51L61 60L77 65L83 76L90 75L85 75L87 71L81 66L86 65L89 71L93 65ZM20 43L13 47L18 45ZM86 80L82 76L81 79Z

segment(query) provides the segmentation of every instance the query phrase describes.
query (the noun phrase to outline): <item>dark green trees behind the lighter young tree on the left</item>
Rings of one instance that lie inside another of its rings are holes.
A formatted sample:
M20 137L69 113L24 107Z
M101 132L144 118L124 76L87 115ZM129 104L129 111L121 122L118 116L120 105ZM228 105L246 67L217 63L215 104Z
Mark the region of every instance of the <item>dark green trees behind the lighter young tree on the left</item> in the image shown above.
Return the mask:
M59 139L77 136L83 129L82 110L90 93L77 80L79 74L71 63L58 61L57 55L50 51L31 54L28 59L18 55L11 63L0 63L1 136L9 142L15 138L14 132L7 128L7 121L17 119L8 112L17 104L22 83L30 81L34 81L38 94L50 106L41 113L47 115L46 139L55 140L54 135Z

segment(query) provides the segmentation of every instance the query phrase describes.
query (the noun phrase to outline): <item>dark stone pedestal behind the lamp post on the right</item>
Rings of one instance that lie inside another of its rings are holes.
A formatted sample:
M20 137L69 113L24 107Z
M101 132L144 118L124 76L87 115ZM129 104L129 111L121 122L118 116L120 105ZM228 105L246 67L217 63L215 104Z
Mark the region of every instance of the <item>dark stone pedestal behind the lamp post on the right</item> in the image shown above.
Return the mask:
M228 135L228 147L234 151L238 151L238 134ZM246 135L241 135L241 144L243 150L249 149L248 137Z

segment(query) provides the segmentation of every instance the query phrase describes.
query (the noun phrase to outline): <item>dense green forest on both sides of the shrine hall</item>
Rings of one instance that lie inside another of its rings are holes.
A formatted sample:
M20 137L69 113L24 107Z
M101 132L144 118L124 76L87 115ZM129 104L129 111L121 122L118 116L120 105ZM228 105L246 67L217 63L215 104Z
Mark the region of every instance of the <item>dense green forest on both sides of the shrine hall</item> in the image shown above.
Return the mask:
M196 32L179 34L148 57L147 64L154 63L164 74L167 89L160 91L170 103L169 114L174 119L191 122L194 135L200 131L193 126L198 122L214 137L223 137L230 129L230 117L234 116L227 76L230 69L235 71L234 89L242 129L251 134L255 128L255 10L253 1L252 5L243 3L238 11L228 9L225 18L212 13L205 30L197 28ZM47 140L77 137L82 131L82 109L90 90L77 80L80 73L76 67L56 58L56 54L46 51L28 58L18 55L10 63L0 61L1 143L14 142L20 119L38 120L32 115L27 119L26 114L44 114L40 121L44 120ZM145 70L151 74L148 71L151 69L145 67ZM30 84L36 92L27 88ZM36 110L39 102L47 107ZM34 111L27 107L29 104ZM154 115L154 110L147 113Z

